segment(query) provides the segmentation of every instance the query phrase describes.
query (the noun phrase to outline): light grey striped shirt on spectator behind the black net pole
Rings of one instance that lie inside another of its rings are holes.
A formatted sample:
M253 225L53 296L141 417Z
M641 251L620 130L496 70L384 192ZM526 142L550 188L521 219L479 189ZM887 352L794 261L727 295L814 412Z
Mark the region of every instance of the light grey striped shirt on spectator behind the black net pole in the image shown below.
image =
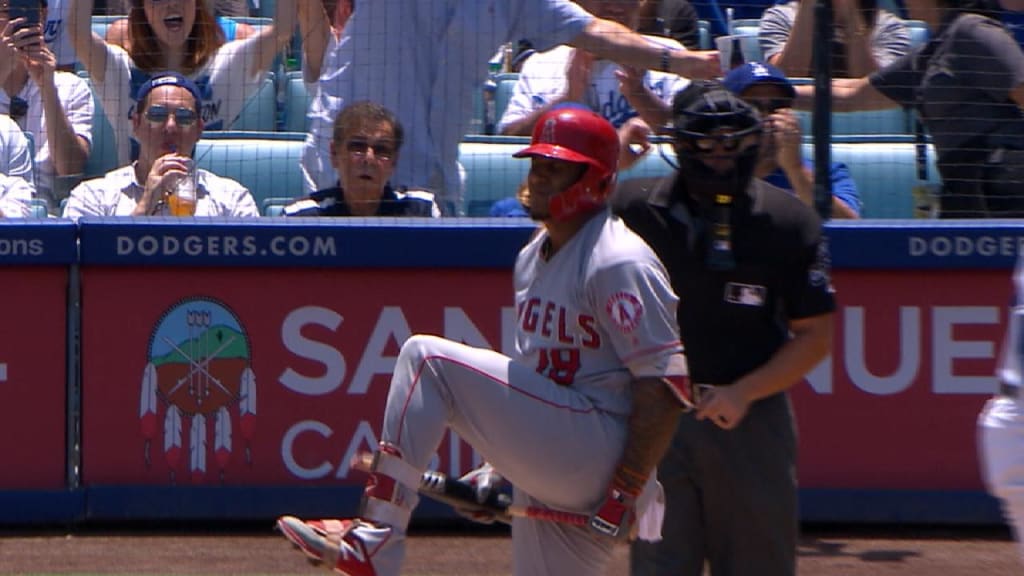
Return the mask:
M805 0L810 2L811 0ZM800 2L776 4L765 10L761 16L758 33L761 51L765 60L782 51L793 32ZM843 41L842 31L836 31L837 41ZM885 68L910 49L910 31L903 20L887 10L879 9L871 30L871 53L879 68Z

